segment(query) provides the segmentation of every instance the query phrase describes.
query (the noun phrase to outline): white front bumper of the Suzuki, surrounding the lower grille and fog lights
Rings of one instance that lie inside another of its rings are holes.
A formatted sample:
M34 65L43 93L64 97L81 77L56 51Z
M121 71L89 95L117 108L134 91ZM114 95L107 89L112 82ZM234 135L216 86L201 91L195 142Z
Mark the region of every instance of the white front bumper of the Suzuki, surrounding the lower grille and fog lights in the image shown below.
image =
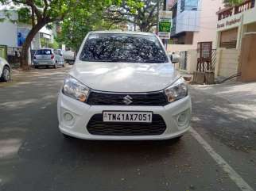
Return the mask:
M113 140L142 140L142 139L172 139L181 136L189 129L191 116L191 99L188 95L165 106L126 106L126 105L87 105L65 96L60 91L58 97L58 120L60 132L80 139L113 139ZM95 114L111 111L152 111L161 115L165 120L166 130L157 136L95 136L87 131L87 123ZM72 120L65 120L64 113L72 114ZM179 125L177 118L180 113L186 113L186 122Z

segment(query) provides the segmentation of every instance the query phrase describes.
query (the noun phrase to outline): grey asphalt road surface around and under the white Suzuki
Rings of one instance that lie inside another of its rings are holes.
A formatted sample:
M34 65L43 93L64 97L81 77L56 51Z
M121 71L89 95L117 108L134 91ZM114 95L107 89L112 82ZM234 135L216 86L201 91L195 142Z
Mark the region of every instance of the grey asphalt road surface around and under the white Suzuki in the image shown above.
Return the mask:
M24 82L0 86L0 190L256 189L256 125L232 113L227 100L191 90L192 128L203 143L192 132L178 142L67 140L56 117L67 71L41 69ZM227 163L219 165L212 153Z

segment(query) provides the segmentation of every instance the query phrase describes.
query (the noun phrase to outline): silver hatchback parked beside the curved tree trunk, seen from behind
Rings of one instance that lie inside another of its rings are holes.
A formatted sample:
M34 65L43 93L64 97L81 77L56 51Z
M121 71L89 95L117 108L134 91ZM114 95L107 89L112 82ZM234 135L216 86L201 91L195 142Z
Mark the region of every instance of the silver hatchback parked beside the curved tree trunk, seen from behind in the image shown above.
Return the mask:
M52 48L39 49L33 55L34 67L64 67L64 58L61 50L53 50Z

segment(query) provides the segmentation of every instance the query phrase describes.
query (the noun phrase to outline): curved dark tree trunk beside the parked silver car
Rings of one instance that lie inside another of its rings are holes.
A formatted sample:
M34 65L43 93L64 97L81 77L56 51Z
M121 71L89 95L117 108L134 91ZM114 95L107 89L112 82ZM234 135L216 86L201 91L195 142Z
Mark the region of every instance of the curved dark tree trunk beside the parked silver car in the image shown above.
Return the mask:
M25 42L22 45L22 51L21 51L21 68L22 69L28 69L29 68L29 63L28 63L28 59L29 59L29 46L33 40L33 37L37 34L37 32L42 29L48 22L47 21L39 21L37 23L37 25L34 25L32 27L32 29L29 31L28 36L25 38Z

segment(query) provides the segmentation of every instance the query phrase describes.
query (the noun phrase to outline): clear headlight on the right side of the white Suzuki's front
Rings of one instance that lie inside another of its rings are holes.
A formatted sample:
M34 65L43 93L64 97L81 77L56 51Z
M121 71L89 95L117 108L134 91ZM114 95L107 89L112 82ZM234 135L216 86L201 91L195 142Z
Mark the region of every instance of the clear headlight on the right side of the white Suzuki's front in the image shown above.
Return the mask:
M169 102L179 100L188 95L188 86L185 84L183 78L179 78L172 86L165 89L165 95Z

